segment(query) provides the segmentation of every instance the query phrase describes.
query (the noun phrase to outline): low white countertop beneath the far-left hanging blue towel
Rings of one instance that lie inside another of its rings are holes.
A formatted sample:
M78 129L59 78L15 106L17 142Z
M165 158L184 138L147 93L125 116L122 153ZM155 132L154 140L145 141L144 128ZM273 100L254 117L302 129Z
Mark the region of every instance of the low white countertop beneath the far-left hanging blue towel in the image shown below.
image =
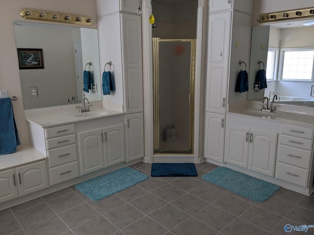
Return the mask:
M0 171L45 160L47 157L30 145L18 146L15 153L0 155Z

